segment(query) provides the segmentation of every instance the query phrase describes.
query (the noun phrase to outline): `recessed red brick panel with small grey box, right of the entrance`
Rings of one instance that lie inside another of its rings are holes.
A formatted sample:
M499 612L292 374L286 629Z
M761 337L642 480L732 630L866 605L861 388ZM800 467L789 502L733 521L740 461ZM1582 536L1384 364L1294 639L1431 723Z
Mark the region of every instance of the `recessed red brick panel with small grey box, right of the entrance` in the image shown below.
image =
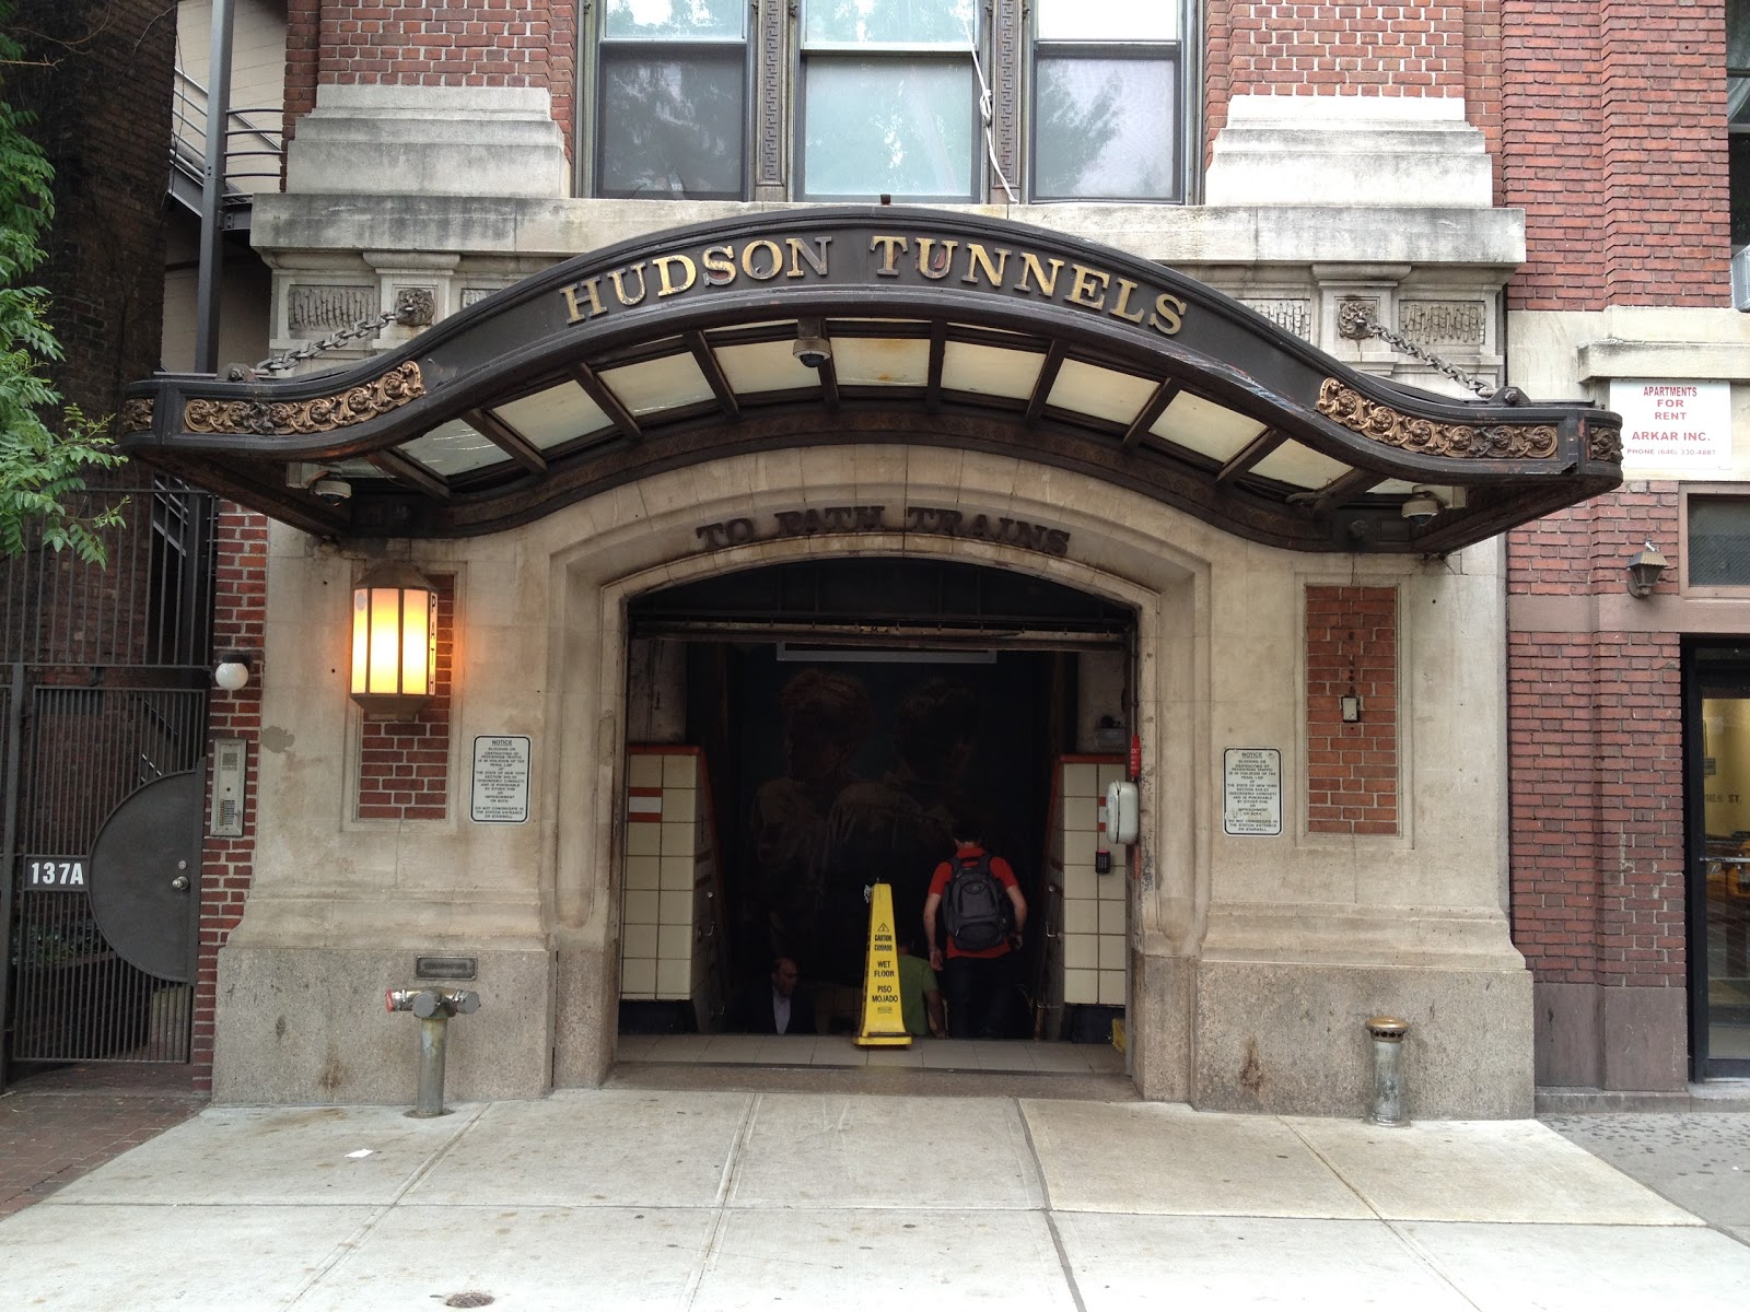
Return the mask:
M1395 834L1398 590L1307 584L1306 607L1307 833Z

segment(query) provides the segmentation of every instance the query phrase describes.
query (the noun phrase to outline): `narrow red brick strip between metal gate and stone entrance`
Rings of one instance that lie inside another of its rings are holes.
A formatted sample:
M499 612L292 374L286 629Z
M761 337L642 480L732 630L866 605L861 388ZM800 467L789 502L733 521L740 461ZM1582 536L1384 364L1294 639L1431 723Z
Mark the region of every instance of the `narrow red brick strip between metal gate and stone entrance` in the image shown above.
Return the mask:
M208 738L242 738L247 750L243 833L240 838L206 836L201 847L201 946L194 985L194 1086L212 1088L214 1001L219 985L219 948L224 946L248 897L256 869L257 749L261 738L262 623L268 604L268 520L231 502L219 504L219 551L214 584L214 651L254 654L248 682L236 693L214 687L208 703ZM212 813L208 770L206 815ZM205 820L203 820L205 824Z

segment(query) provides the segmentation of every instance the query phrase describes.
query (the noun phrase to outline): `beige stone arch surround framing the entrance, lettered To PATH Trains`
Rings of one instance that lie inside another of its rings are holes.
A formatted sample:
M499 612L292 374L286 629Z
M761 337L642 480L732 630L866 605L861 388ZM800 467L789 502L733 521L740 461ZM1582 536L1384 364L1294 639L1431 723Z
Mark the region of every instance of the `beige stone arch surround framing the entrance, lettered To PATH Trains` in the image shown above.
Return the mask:
M1132 507L1136 520L1115 523L1111 497L1092 479L1066 479L1001 457L954 455L950 460L917 450L838 448L796 453L786 460L784 472L744 458L723 462L707 474L709 481L737 492L698 500L679 495L679 486L665 486L663 476L648 479L637 492L644 514L553 556L556 626L548 701L560 700L564 719L551 763L555 801L583 792L593 796L592 813L574 831L556 834L551 883L553 932L560 943L555 1083L598 1083L612 1062L620 915L614 873L625 841L625 826L614 808L623 794L616 771L626 749L628 600L653 588L749 565L861 555L1022 570L1134 607L1141 653L1136 710L1144 759L1144 833L1138 852L1143 878L1130 904L1130 978L1139 1001L1132 1008L1136 1078L1152 1097L1188 1097L1190 973L1176 959L1195 952L1197 908L1206 903L1206 880L1199 875L1202 854L1194 838L1199 773L1194 754L1195 743L1208 736L1202 722L1208 693L1197 680L1208 672L1208 653L1200 651L1208 623L1200 612L1209 562L1199 548L1218 549L1223 535L1186 523L1178 527L1186 537L1206 541L1167 546L1176 535L1172 527L1166 520L1148 523L1152 516L1143 504ZM684 472L668 479L696 486ZM1052 485L1050 500L1017 492L1036 479ZM1069 549L1059 556L999 541L868 530L774 537L724 544L716 551L696 546L696 530L721 523L716 516L728 509L752 513L730 518L756 518L761 506L826 511L844 504L956 504L966 507L968 516L978 507L1003 509L1010 511L1006 518L1050 523L1068 534ZM1153 511L1162 514L1158 506ZM1171 520L1171 513L1164 514ZM688 539L691 549L686 549ZM681 555L672 555L676 546ZM595 1020L574 1025L565 1016Z

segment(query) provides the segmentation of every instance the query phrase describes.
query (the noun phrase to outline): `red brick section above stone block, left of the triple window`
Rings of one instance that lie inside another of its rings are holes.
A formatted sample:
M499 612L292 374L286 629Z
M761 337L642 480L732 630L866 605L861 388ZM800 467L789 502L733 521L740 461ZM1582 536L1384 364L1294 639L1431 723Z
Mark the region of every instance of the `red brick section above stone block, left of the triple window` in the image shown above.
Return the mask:
M572 138L576 0L287 0L285 136L317 86L536 86Z

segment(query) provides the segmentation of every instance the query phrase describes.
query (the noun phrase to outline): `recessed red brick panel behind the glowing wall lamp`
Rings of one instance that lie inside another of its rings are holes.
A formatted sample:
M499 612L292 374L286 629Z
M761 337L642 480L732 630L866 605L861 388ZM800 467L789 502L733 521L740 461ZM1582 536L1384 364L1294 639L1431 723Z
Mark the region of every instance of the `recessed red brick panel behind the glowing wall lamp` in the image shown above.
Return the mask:
M438 590L438 694L411 719L366 719L359 735L360 820L450 817L450 677L455 665L455 576Z

